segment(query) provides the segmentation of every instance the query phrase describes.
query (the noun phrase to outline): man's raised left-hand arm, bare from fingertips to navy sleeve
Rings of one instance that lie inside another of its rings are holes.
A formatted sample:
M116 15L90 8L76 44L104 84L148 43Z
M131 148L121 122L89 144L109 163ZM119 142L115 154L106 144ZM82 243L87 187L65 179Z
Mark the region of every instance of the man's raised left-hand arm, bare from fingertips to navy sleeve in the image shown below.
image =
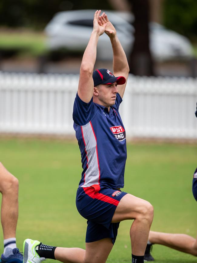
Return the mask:
M80 68L78 96L86 103L88 103L93 96L94 82L92 79L92 73L96 61L97 43L99 36L105 32L105 26L107 25L106 23L99 25L98 21L100 13L101 10L97 10L94 14L93 31L88 46L83 54Z

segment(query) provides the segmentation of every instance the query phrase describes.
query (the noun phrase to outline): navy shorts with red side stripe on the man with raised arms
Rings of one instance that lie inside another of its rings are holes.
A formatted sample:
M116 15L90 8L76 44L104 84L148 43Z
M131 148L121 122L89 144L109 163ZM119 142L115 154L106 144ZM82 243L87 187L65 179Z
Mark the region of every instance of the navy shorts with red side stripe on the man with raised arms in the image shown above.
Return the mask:
M118 233L119 224L111 223L115 209L126 192L94 184L90 187L79 187L76 206L79 214L87 219L85 242L94 242L103 238L112 238Z

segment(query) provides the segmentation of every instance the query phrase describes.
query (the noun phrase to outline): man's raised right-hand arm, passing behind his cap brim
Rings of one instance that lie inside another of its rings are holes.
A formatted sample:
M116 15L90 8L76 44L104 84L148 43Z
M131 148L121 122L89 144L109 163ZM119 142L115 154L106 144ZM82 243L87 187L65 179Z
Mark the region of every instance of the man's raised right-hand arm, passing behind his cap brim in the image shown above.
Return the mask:
M107 15L102 14L101 16L99 16L99 25L104 25L105 23L107 23L107 25L105 26L105 33L109 36L112 43L114 76L124 76L126 79L125 84L117 86L120 96L123 97L127 79L129 76L129 65L124 49L122 48L122 45L116 35L114 26L109 21Z

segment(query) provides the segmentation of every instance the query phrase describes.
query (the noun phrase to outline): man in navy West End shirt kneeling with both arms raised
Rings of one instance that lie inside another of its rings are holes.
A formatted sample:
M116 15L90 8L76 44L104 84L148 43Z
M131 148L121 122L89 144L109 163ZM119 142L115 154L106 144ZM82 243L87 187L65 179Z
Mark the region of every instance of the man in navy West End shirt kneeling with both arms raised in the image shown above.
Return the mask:
M24 263L39 263L45 258L64 263L105 263L115 242L119 222L132 219L132 262L144 262L153 207L145 200L120 191L124 186L126 133L119 105L129 66L114 26L105 13L101 16L100 13L101 10L97 10L94 15L73 108L83 167L76 206L88 223L86 249L56 248L26 239ZM94 71L97 42L104 32L112 44L113 73L109 69Z

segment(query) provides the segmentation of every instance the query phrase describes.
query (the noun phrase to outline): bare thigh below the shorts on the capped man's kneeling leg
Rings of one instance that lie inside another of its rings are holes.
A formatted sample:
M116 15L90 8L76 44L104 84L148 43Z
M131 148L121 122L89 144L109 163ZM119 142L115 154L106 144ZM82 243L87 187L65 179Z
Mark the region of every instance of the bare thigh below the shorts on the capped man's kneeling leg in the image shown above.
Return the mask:
M85 243L85 263L105 263L112 248L111 238Z

